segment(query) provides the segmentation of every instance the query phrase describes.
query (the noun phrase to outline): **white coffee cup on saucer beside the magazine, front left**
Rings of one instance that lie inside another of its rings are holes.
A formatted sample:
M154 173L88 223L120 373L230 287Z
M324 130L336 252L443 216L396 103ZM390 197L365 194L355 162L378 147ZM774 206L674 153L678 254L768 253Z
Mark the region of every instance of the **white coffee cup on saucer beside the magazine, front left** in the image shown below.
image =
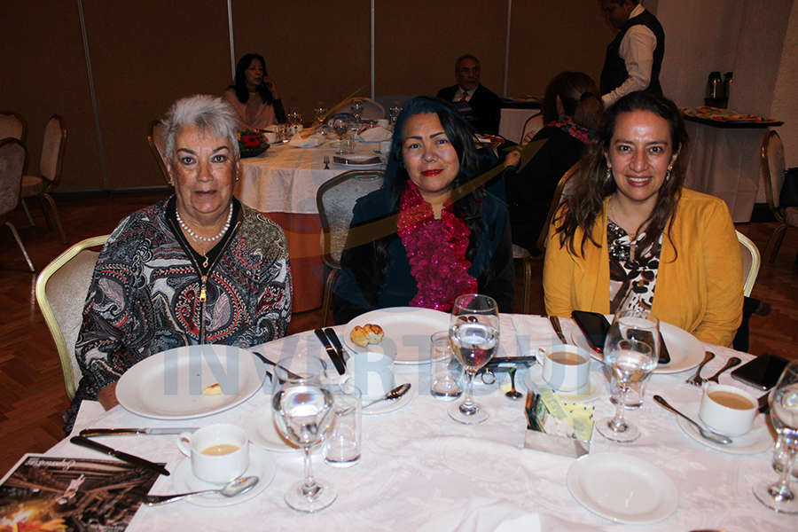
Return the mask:
M223 484L238 478L249 466L249 440L240 426L216 424L182 433L177 447L192 460L198 479Z

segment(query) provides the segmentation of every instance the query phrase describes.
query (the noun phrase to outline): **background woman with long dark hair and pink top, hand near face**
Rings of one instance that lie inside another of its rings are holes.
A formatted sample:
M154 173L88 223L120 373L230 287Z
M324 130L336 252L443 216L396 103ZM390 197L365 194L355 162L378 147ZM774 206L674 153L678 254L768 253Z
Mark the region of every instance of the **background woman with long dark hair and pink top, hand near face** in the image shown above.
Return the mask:
M247 53L236 65L236 79L223 98L239 117L239 129L263 129L286 121L286 111L278 96L277 84L269 77L266 61Z

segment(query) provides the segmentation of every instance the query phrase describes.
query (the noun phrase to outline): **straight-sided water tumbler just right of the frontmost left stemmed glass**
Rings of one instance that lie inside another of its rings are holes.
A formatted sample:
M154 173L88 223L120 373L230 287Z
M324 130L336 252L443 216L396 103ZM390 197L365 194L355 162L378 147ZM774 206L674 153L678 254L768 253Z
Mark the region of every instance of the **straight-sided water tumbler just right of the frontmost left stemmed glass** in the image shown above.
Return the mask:
M335 467L356 465L360 461L363 397L350 381L331 387L331 392L335 420L325 438L325 462Z

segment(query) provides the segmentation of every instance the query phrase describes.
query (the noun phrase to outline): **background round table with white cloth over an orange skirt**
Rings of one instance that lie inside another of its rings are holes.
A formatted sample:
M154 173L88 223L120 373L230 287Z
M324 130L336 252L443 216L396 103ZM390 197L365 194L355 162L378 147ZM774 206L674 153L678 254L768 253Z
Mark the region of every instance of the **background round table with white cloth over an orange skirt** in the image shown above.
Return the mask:
M355 169L335 164L335 137L317 147L271 145L258 157L241 160L235 195L245 205L265 213L286 233L293 275L293 312L321 306L325 267L321 258L322 229L316 192L334 176ZM356 154L376 154L379 144L356 143ZM325 168L324 158L330 158Z

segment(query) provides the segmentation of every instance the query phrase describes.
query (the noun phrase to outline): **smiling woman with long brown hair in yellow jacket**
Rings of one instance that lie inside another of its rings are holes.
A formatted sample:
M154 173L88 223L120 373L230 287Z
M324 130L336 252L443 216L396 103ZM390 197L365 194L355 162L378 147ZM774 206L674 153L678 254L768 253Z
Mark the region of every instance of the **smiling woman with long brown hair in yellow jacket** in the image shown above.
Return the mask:
M687 135L666 98L634 92L606 113L549 231L546 312L650 310L727 346L742 318L743 267L722 200L683 188Z

